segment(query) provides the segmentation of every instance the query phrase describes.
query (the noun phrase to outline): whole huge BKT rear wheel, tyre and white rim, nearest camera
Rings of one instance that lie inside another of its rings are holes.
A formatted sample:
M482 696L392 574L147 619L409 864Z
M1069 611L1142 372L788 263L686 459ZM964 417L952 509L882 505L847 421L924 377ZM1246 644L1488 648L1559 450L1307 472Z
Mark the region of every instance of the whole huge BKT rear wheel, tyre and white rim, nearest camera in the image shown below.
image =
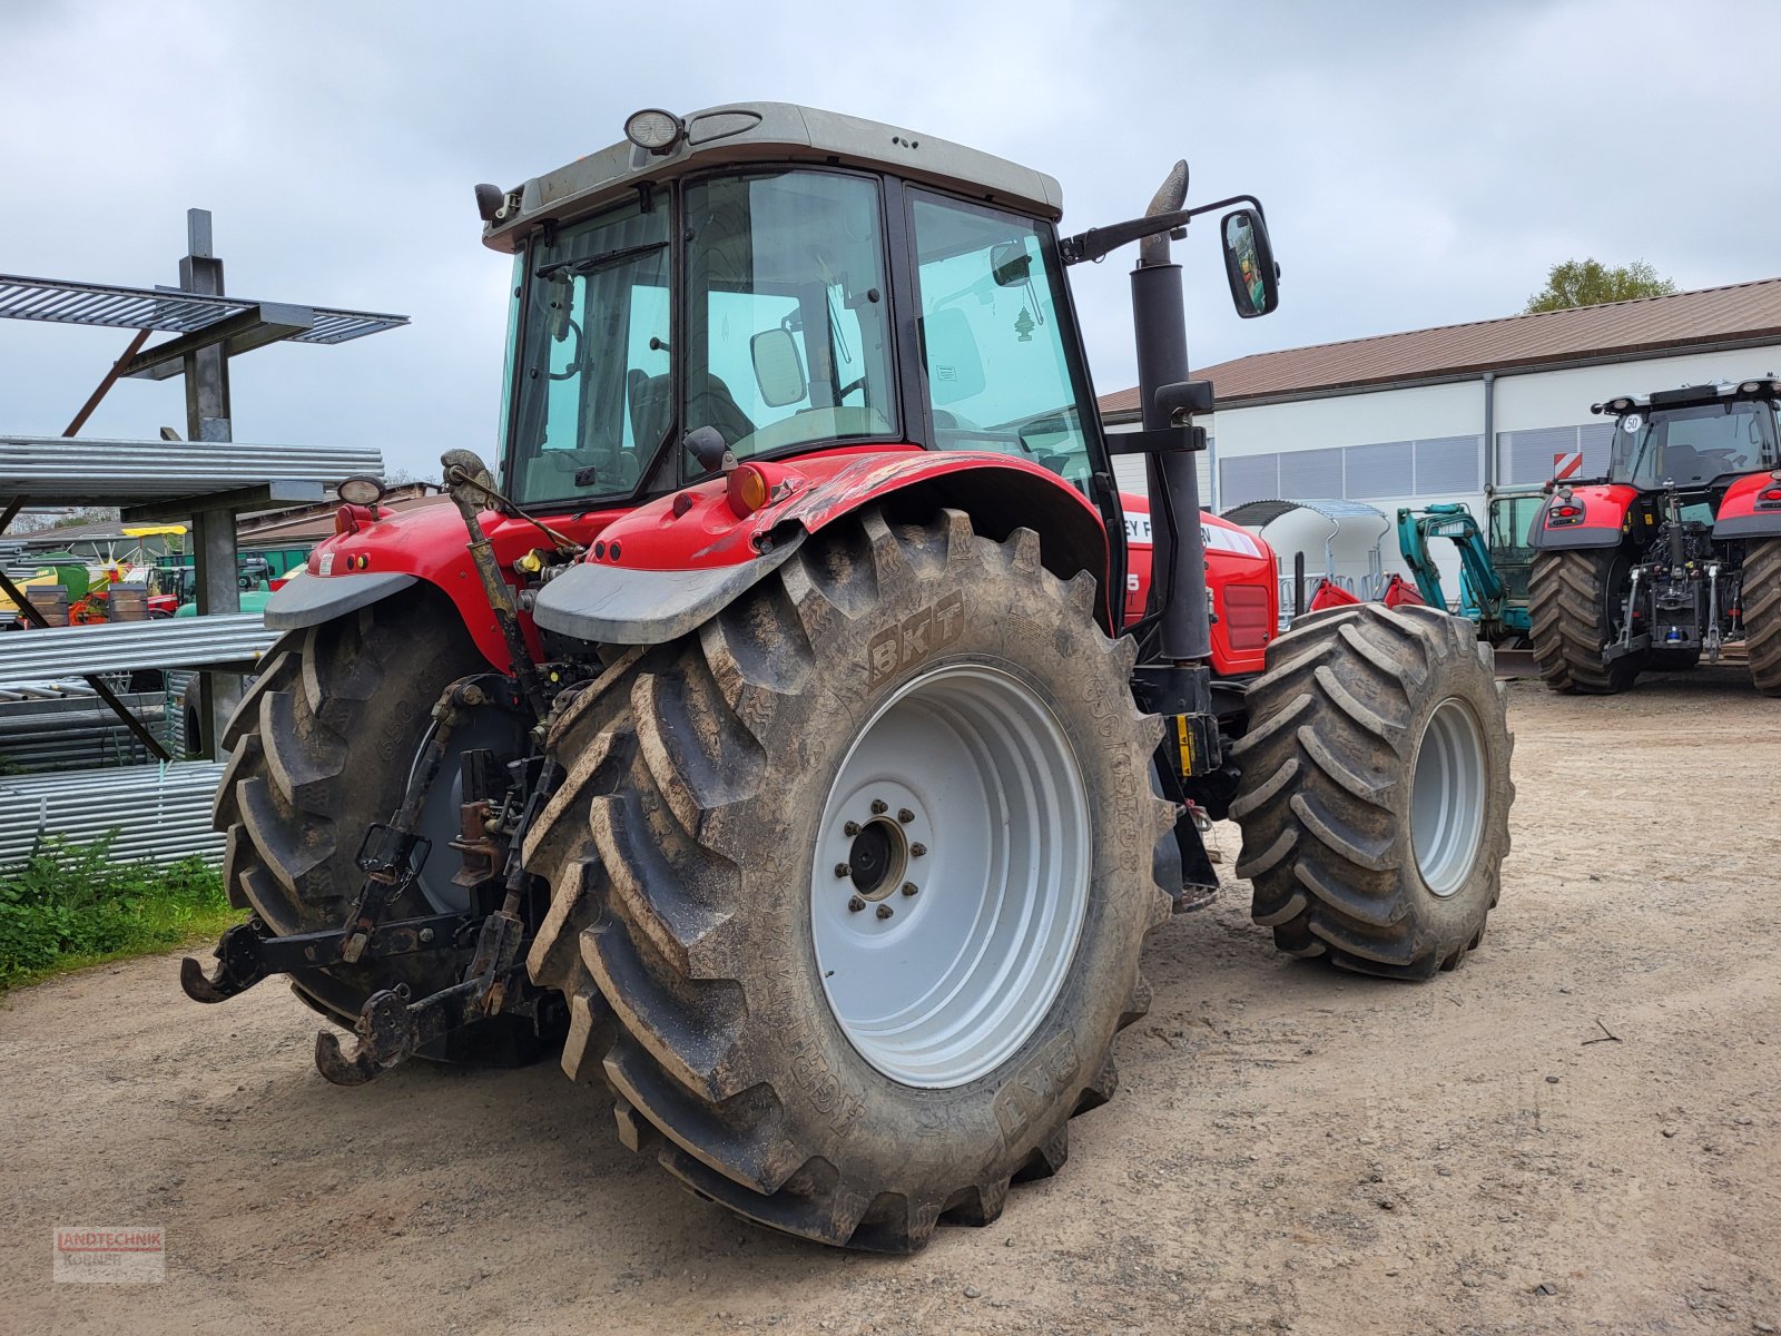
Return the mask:
M1038 556L866 511L554 727L533 978L565 1071L695 1193L908 1252L1113 1094L1172 809L1131 641Z

